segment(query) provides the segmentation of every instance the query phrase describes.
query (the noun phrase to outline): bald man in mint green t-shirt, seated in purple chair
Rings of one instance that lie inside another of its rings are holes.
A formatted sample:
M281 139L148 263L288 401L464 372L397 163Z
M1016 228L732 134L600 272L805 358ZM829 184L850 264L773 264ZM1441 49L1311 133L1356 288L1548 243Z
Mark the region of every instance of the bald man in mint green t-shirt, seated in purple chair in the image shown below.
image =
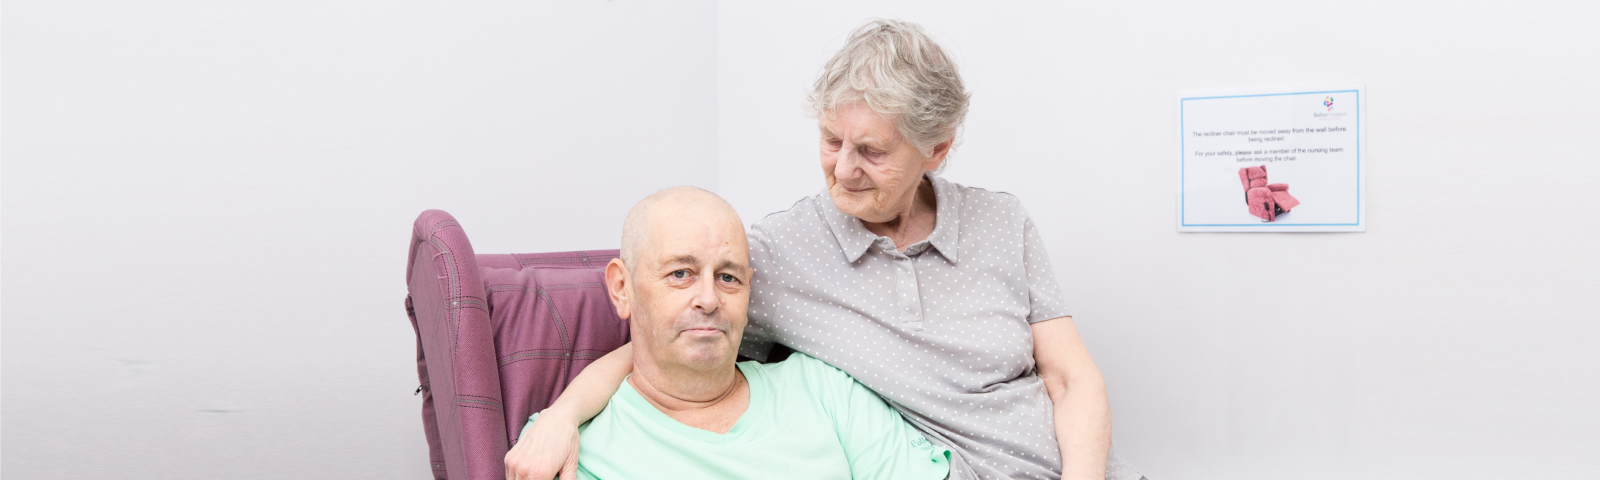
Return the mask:
M634 373L579 429L576 475L944 478L949 450L843 371L803 354L734 362L752 274L744 224L717 195L669 189L629 211L605 278ZM507 453L506 477L538 478L530 454Z

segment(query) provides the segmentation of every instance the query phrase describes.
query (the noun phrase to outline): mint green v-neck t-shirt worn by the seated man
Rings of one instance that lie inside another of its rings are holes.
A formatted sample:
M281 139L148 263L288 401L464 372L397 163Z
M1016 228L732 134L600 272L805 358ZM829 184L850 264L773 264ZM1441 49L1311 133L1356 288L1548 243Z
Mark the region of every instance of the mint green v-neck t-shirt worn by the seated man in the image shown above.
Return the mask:
M622 382L578 429L578 477L944 478L950 470L949 450L822 360L794 354L739 371L750 408L728 434L680 424Z

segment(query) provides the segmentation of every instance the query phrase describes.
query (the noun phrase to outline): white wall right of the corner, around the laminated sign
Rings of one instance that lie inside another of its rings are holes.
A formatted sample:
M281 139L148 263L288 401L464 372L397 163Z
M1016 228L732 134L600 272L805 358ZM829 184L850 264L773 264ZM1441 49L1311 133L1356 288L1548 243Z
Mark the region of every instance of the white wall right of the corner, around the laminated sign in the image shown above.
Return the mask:
M1030 208L1150 478L1600 467L1594 2L718 3L747 222L822 187L803 91L869 16L974 93L946 178ZM1365 234L1176 234L1182 90L1365 82Z

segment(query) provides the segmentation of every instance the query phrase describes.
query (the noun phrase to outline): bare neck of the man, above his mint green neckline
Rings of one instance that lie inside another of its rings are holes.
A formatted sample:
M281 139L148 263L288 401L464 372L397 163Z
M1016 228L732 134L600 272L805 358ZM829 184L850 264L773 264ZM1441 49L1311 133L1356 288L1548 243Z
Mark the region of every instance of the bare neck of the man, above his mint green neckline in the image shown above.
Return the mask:
M627 382L680 424L726 434L750 406L750 386L738 366L717 371L662 370L637 360Z

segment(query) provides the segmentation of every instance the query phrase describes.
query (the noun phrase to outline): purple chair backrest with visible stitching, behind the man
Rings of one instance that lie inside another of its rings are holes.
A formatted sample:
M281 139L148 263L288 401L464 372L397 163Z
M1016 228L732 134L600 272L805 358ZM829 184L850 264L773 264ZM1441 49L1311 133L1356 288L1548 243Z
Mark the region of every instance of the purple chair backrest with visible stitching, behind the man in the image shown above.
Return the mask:
M627 342L605 291L616 254L475 254L448 213L418 216L406 314L434 478L506 478L506 451L528 416Z

